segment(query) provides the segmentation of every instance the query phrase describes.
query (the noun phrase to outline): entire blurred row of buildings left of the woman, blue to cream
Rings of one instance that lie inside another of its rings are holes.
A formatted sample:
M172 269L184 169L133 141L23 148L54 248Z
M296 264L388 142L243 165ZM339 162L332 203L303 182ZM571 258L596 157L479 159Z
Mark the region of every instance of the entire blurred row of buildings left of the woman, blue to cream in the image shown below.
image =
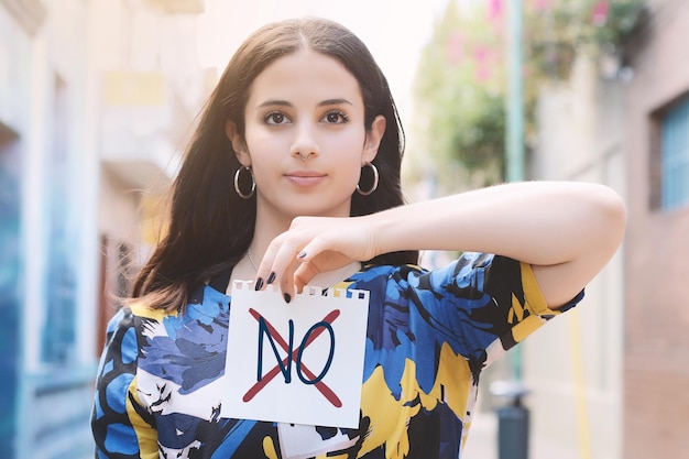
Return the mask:
M105 324L206 96L201 0L0 0L0 441L92 457ZM143 249L142 251L140 249Z

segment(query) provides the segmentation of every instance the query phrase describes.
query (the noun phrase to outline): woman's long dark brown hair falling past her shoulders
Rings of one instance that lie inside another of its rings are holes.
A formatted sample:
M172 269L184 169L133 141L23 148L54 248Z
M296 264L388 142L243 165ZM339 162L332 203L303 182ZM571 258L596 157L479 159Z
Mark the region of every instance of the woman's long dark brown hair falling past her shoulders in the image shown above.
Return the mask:
M168 231L139 273L134 298L146 296L152 307L184 307L189 291L230 270L253 238L255 196L240 198L232 176L241 166L225 125L232 121L244 133L244 108L255 77L273 61L309 48L337 58L357 78L369 131L376 116L387 120L379 153L376 190L352 194L351 215L373 214L404 204L401 162L404 131L387 80L367 46L342 25L324 19L299 19L263 26L250 35L230 59L201 112L172 188ZM362 184L364 189L367 184ZM416 251L385 253L376 264L416 263Z

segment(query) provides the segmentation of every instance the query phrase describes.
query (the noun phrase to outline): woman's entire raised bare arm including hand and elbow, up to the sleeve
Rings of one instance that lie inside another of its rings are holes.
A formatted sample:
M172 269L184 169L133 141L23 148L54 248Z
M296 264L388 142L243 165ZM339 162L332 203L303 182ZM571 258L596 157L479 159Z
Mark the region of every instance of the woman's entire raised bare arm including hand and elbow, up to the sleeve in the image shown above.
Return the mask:
M603 185L511 183L364 217L299 217L271 243L260 273L296 270L281 278L283 292L292 292L318 272L381 253L489 252L532 264L546 302L557 307L608 263L624 226L622 199Z

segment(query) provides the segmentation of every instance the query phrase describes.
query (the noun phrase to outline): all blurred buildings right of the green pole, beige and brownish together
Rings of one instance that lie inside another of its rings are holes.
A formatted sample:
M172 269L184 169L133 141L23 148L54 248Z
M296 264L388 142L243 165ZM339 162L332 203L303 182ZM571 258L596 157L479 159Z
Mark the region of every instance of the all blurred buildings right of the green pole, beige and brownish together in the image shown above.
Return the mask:
M578 56L568 81L542 88L531 176L608 184L628 212L624 247L581 307L524 345L532 433L568 457L689 448L687 31L686 1L649 0L624 55Z

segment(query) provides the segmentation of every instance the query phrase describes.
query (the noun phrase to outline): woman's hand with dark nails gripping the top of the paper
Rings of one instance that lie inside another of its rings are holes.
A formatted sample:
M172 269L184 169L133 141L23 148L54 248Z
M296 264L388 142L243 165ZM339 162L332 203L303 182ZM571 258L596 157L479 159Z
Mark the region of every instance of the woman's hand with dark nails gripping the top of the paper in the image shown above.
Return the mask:
M302 293L316 274L374 258L375 231L369 217L295 218L267 247L256 277L278 283L288 303L295 288Z

